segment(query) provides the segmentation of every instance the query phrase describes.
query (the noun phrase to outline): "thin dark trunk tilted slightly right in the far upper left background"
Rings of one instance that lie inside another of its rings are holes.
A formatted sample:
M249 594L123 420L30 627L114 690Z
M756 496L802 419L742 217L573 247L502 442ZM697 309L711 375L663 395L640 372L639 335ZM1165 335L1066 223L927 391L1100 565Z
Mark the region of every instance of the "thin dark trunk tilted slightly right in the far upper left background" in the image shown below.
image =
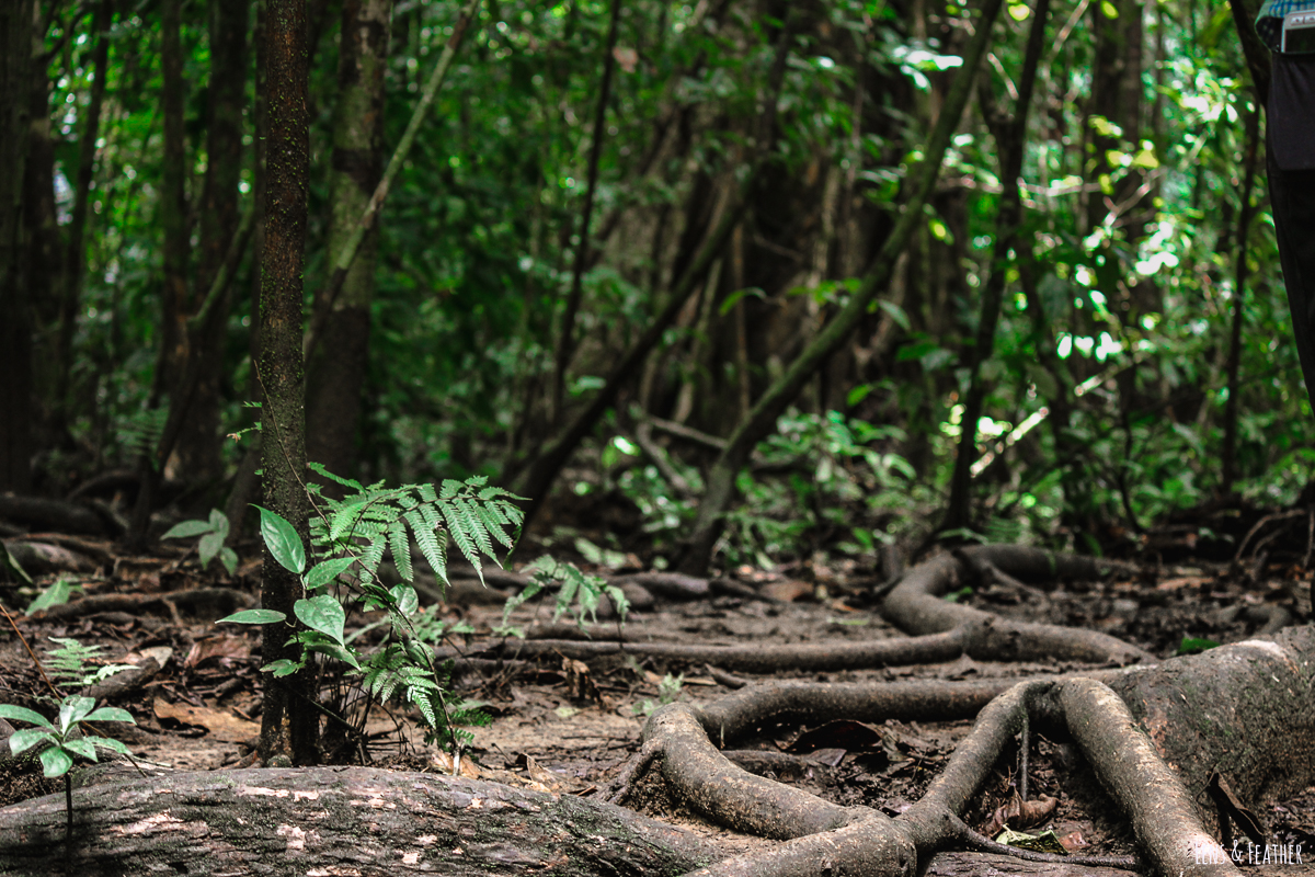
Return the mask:
M100 137L100 114L105 104L105 80L109 74L109 24L114 14L114 0L100 0L92 30L96 47L92 50L91 100L78 146L78 179L74 188L74 210L68 222L68 255L64 259L63 301L59 313L59 335L55 347L54 415L57 430L62 430L68 417L68 387L74 364L74 330L78 327L78 308L82 302L83 281L87 272L87 205L91 202L92 172L96 168L96 141Z

